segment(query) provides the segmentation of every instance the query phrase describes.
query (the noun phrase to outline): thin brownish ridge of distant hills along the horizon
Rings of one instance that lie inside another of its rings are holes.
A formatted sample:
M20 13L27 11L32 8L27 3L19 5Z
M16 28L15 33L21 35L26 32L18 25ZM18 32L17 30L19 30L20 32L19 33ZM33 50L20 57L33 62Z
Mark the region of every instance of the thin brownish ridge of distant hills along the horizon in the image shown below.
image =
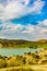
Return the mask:
M24 42L27 42L27 43L46 43L47 42L47 39L38 39L38 40L35 40L35 42L33 42L33 40L24 40L24 39L2 39L2 38L0 38L0 42L20 42L20 43L24 43Z

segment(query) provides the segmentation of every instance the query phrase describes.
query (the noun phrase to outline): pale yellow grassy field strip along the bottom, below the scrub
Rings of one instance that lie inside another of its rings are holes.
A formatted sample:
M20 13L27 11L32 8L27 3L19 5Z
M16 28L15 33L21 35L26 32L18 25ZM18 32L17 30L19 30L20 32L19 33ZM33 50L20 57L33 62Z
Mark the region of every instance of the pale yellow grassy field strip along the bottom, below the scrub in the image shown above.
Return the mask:
M25 67L2 68L0 71L47 71L47 64L32 64Z

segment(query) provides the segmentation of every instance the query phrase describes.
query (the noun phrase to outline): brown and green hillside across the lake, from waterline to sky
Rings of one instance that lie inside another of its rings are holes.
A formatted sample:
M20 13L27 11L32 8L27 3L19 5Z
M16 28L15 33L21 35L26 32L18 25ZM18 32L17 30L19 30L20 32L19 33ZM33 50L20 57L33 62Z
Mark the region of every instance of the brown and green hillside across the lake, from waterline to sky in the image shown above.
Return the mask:
M13 39L0 39L0 47L28 47L28 48L46 48L47 39L40 39L37 42L28 42L28 40L13 40Z

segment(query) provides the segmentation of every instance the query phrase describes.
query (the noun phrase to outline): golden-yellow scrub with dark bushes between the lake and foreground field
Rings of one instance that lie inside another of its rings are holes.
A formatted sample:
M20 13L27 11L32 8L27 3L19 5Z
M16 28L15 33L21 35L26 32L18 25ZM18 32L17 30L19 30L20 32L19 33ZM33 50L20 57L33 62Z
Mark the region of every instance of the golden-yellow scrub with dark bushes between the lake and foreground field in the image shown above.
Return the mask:
M32 64L47 64L47 49L35 54L27 52L23 56L0 56L0 68L22 67Z

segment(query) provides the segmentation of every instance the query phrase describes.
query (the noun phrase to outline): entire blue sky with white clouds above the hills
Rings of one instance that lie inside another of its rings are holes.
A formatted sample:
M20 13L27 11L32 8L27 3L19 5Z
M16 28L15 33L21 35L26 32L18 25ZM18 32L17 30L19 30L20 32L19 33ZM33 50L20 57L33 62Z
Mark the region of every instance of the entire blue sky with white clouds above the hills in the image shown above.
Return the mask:
M47 0L0 0L0 38L47 39Z

